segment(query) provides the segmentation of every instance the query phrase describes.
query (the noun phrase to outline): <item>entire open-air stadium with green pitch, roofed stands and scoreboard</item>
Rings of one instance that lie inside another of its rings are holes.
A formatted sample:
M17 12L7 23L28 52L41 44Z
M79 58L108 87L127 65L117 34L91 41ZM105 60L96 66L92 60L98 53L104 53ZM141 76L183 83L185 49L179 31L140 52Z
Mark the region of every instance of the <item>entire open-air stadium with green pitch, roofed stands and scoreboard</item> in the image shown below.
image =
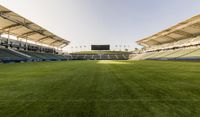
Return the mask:
M200 15L137 39L139 49L65 52L70 43L0 5L0 116L200 115Z

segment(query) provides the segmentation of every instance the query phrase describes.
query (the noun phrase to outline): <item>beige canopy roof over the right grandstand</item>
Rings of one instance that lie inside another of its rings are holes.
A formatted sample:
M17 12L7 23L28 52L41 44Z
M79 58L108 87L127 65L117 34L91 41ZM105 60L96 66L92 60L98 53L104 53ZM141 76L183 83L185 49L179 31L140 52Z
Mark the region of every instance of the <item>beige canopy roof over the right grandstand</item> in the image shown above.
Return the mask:
M200 15L194 16L173 27L137 41L142 46L161 45L200 35Z

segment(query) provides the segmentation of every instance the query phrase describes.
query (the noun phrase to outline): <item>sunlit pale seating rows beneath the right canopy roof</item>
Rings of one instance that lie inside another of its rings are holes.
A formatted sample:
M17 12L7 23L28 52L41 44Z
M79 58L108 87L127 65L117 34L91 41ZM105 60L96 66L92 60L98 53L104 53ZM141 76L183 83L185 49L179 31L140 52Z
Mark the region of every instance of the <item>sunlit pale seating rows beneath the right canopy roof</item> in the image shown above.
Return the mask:
M190 47L131 55L132 60L200 60L200 48Z

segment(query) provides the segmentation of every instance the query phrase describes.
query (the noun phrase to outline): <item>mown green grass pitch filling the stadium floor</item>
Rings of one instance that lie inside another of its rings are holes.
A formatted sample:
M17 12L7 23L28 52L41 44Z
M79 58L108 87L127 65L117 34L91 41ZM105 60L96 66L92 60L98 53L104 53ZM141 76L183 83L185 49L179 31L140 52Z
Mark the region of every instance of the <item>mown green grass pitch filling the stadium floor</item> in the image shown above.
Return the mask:
M196 117L200 63L0 64L0 116Z

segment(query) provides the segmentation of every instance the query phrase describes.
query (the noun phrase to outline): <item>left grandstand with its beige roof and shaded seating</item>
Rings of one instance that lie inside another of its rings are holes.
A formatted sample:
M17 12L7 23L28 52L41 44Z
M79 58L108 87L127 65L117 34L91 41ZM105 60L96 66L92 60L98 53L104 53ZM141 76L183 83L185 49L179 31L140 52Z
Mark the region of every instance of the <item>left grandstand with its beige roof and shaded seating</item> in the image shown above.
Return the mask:
M55 48L63 48L69 41L3 6L0 6L0 24L0 62L68 59L67 56L58 55Z

